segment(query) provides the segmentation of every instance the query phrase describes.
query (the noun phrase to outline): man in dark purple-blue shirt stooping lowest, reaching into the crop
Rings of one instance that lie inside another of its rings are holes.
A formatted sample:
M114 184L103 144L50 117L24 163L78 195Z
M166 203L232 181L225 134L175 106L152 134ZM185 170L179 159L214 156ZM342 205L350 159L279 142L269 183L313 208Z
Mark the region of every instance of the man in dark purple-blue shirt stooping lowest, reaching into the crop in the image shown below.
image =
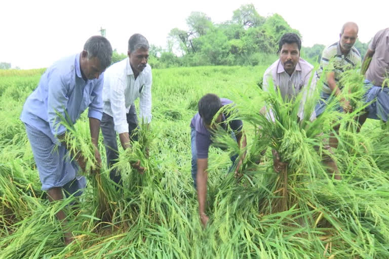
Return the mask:
M209 146L212 144L212 129L215 127L215 124L212 123L212 119L220 108L231 103L232 101L226 98L219 98L214 94L207 94L200 99L198 104L199 112L196 113L190 121L192 178L193 185L197 189L199 214L204 226L206 226L208 222L208 216L205 213L205 203L207 200L208 150ZM229 116L229 113L220 113L215 123L220 124L224 129L226 129L227 125L225 120L228 119ZM241 149L245 148L247 142L246 136L243 135L242 131L242 120L231 120L228 124L233 131L232 135L236 137L239 147ZM237 157L237 155L231 157L232 163L235 163ZM239 166L242 164L242 160L243 158L239 161L236 172L238 172Z

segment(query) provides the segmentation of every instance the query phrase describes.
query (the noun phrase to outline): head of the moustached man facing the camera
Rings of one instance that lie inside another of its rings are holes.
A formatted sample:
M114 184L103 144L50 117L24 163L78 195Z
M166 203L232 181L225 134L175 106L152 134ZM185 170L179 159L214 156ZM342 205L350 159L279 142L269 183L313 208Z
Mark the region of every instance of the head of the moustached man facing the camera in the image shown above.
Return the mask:
M301 39L296 33L285 33L278 46L281 64L291 75L300 59Z

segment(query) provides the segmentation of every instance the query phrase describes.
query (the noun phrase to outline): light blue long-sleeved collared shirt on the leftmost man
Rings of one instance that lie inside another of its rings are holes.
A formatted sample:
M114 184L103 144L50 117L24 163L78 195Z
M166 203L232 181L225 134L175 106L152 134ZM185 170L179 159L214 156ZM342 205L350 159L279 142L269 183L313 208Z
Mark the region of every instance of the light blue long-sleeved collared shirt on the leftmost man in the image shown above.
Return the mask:
M27 98L20 119L45 133L59 144L57 135L66 132L56 111L73 123L89 107L88 117L101 120L103 114L103 74L98 79L84 80L80 54L61 59L42 75L38 87Z

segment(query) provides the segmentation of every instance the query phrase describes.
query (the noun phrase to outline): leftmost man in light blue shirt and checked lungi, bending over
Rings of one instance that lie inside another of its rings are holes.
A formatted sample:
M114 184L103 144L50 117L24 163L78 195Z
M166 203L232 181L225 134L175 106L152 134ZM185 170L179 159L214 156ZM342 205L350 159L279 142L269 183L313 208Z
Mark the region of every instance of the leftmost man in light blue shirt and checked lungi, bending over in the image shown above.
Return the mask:
M111 57L109 41L102 36L92 36L81 53L63 58L46 70L23 106L20 119L26 127L42 190L47 191L50 201L62 199L62 190L65 195L78 196L86 185L86 179L77 175L79 166L85 171L86 159L81 152L69 154L66 128L60 124L58 114L65 116L67 113L75 123L89 107L96 168L101 166L97 143L102 117L103 71ZM57 218L63 221L66 215L61 210ZM71 240L71 234L66 231L65 243Z

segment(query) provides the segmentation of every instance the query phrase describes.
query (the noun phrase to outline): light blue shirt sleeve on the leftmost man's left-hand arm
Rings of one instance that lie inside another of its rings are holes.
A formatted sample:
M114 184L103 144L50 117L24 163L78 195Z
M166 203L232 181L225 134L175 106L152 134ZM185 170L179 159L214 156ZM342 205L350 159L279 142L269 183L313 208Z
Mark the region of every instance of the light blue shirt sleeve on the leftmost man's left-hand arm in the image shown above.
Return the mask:
M60 74L53 71L48 80L48 107L47 116L51 133L54 136L62 135L66 132L66 127L61 124L61 116L66 118L65 111L69 97L68 84L64 82ZM61 115L61 116L60 116Z

